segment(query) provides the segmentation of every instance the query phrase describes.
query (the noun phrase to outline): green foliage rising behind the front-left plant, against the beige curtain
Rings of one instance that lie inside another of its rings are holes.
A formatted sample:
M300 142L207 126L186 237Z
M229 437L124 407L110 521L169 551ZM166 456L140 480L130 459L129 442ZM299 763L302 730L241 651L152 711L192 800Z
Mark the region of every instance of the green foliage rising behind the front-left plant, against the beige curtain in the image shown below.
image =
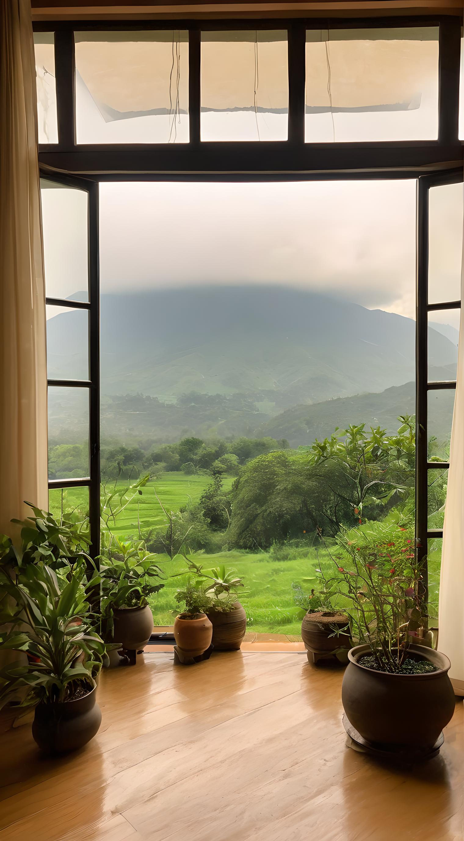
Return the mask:
M58 522L49 511L36 508L26 502L34 516L27 520L12 520L21 527L21 545L14 547L12 540L0 535L0 564L2 566L24 567L29 563L47 563L52 569L76 560L87 553L90 545L87 537L88 522L75 512L62 514Z

